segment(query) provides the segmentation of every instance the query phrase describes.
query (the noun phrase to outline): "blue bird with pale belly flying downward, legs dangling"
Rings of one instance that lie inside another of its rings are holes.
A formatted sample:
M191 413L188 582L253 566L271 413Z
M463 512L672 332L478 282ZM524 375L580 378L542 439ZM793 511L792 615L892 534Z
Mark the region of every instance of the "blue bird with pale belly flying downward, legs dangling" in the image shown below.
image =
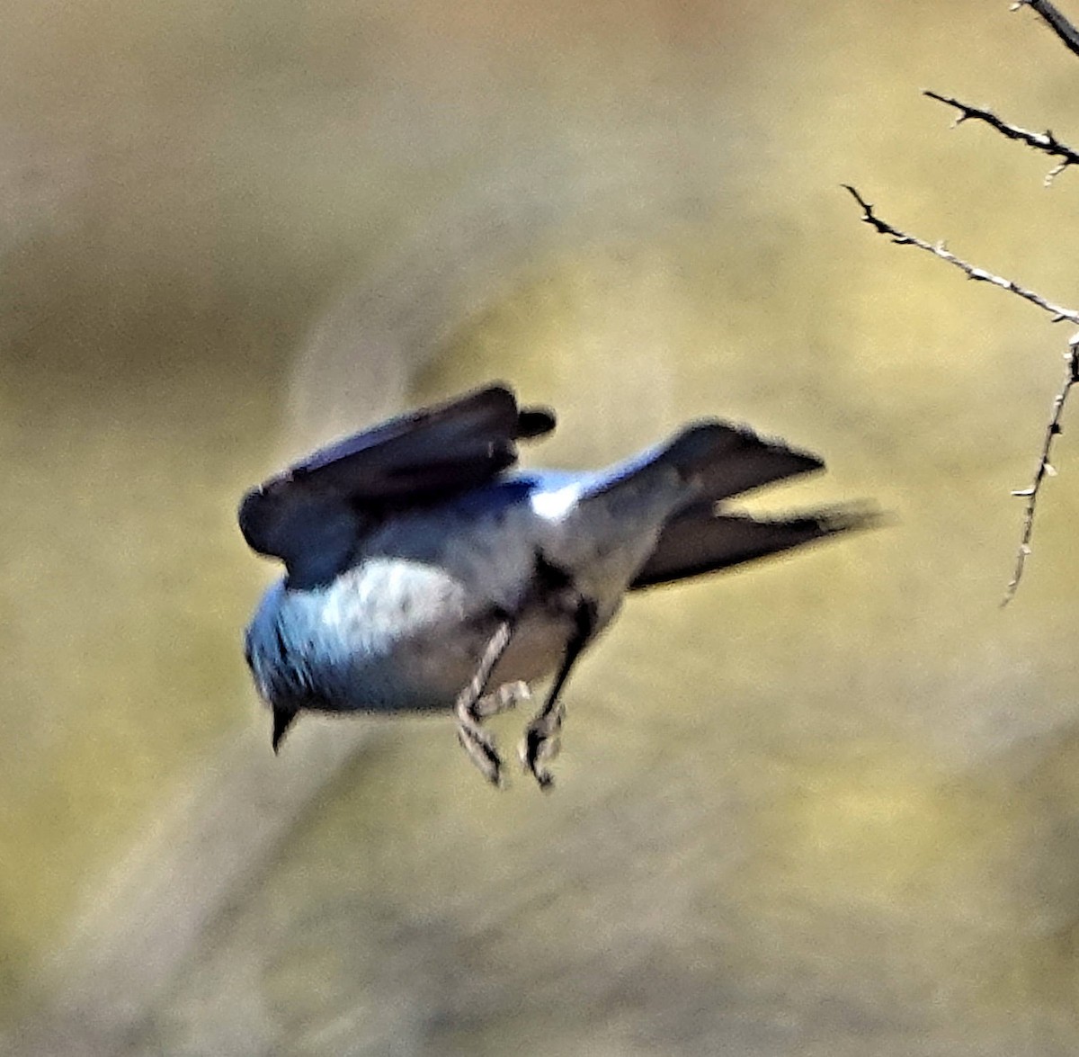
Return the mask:
M566 680L628 594L878 519L865 504L729 510L824 463L720 419L598 471L518 467L518 444L555 422L493 382L320 448L244 494L245 541L285 566L244 639L274 753L303 712L451 712L501 786L483 721L552 676L519 754L550 788Z

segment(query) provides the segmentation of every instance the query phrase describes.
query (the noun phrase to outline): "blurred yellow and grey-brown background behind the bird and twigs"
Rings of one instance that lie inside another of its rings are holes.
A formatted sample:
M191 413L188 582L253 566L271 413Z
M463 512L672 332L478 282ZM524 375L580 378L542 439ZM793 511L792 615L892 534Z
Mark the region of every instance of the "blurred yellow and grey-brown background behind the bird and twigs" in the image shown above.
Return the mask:
M839 189L1076 303L1079 177L919 94L1079 138L1008 6L4 5L5 1052L1076 1052L1069 434L998 608L1069 335ZM715 414L894 524L632 599L549 797L448 718L274 759L238 496L492 378L532 461Z

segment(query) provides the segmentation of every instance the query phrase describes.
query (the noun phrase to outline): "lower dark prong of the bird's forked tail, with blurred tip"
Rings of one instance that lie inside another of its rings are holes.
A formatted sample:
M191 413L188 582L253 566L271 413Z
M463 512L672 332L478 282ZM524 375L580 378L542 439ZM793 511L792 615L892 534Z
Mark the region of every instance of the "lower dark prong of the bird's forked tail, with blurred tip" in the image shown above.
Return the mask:
M630 590L715 572L837 532L871 528L879 520L879 514L863 506L764 519L749 514L716 514L711 503L696 504L675 515L664 527L655 551L633 579Z

